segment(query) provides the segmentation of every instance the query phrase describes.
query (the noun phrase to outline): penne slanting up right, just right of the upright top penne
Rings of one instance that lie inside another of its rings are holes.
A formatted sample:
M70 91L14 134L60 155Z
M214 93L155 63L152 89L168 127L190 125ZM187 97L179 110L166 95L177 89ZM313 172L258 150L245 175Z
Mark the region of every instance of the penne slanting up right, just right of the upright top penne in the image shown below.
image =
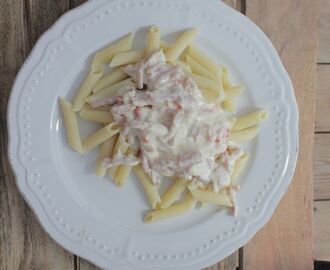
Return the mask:
M189 44L193 41L193 39L199 34L199 30L197 28L191 28L181 34L177 40L170 46L170 48L166 51L166 60L168 62L174 62L182 52L189 46Z

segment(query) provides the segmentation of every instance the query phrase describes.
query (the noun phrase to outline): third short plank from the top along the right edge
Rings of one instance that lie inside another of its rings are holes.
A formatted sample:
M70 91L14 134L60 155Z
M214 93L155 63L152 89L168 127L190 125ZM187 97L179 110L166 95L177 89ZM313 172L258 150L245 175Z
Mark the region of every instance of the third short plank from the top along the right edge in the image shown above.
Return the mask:
M330 134L315 134L314 200L330 200Z

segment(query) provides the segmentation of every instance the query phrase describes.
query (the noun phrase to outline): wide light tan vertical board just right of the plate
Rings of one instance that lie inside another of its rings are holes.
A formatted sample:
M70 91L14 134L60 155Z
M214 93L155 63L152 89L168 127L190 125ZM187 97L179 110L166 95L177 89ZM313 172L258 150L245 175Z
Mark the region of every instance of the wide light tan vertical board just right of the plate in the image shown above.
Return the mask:
M246 13L270 37L300 108L299 161L271 221L243 249L243 269L313 269L312 180L317 1L247 0Z

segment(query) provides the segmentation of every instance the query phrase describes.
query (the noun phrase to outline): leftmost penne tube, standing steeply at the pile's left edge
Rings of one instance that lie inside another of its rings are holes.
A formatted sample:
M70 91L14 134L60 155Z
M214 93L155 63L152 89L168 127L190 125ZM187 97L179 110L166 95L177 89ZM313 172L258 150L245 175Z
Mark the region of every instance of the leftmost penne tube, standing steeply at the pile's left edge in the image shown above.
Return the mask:
M72 111L72 105L64 98L60 98L60 105L62 109L68 144L73 150L82 153L78 122L76 114Z

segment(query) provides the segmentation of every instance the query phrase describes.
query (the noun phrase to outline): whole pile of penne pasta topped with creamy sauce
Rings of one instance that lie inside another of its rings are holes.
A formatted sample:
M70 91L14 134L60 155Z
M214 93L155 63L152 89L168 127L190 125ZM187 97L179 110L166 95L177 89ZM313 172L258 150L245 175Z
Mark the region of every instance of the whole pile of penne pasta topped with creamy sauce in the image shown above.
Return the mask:
M192 44L198 34L188 29L167 44L153 26L138 50L128 34L95 54L72 104L60 99L69 146L79 153L100 148L97 176L123 186L135 173L152 209L146 223L197 202L236 214L236 179L249 159L241 144L268 118L264 110L233 115L244 87L231 85L228 70ZM77 113L102 128L82 141ZM162 181L173 184L161 196Z

